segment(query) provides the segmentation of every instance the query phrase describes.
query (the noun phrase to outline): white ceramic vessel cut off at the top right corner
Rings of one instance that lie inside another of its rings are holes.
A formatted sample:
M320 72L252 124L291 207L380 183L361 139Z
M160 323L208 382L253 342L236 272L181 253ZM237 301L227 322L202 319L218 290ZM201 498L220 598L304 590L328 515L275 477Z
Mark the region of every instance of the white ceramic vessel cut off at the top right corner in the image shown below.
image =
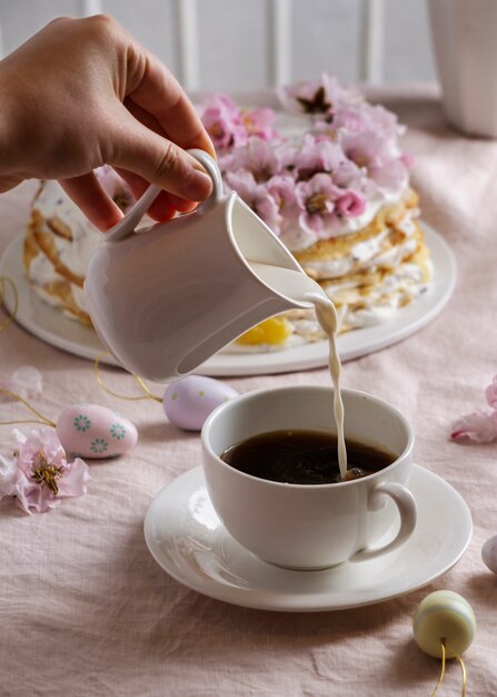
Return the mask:
M448 122L497 138L497 2L429 0L428 10Z

